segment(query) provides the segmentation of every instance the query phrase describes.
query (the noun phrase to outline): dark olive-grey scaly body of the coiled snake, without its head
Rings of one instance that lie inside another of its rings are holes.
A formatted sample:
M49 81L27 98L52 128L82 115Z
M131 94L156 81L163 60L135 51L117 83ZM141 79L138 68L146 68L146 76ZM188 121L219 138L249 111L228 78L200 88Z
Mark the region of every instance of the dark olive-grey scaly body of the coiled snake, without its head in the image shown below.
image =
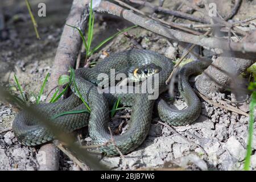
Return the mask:
M110 68L115 72L126 72L130 68L138 68L144 64L154 63L162 68L159 72L159 94L166 90L165 81L172 72L174 64L167 59L152 51L132 49L114 53L97 63L93 68L80 68L75 72L76 84L85 101L91 109L90 114L68 114L53 120L55 125L65 132L72 132L88 125L89 135L94 144L104 144L111 139L108 124L110 119L109 108L113 105L118 97L121 98L121 104L132 106L131 121L129 129L122 135L114 135L115 143L123 154L127 154L140 146L147 137L152 119L152 111L155 108L158 111L160 119L169 125L181 126L187 125L200 115L201 103L199 98L193 92L188 82L189 75L199 72L207 67L200 61L193 61L186 64L180 70L179 74L179 91L181 96L187 102L187 109L175 110L162 99L148 100L148 93L137 94L100 94L97 90L97 76L99 73L110 74ZM74 89L72 89L74 90ZM155 102L156 101L156 102ZM80 99L72 94L70 97L55 104L40 104L35 106L46 117L51 118L56 114L69 110L85 109L85 105ZM35 146L46 143L54 139L54 135L45 127L41 126L40 121L32 118L26 112L21 111L13 122L13 131L23 144L27 146ZM117 148L113 144L100 147L100 150L109 155L119 155Z

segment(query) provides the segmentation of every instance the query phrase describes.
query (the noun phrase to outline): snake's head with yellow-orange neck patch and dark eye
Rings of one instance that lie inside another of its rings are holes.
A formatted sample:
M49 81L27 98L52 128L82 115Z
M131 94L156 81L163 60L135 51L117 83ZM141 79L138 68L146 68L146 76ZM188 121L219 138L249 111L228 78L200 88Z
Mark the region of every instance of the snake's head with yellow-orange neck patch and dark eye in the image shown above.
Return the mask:
M131 80L134 82L146 80L148 77L159 73L162 70L158 65L154 63L143 65L142 67L135 68Z

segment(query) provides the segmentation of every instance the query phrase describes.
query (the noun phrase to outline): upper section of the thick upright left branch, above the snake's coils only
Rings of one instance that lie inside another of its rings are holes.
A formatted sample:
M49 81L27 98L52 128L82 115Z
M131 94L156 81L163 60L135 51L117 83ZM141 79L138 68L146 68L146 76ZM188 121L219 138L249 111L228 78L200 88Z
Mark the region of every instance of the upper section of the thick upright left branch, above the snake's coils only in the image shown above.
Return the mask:
M51 74L51 82L49 82L49 88L54 88L59 77L61 75L67 74L70 67L75 68L75 62L80 52L82 39L80 37L79 31L77 31L75 28L67 26L67 24L75 26L80 30L85 30L85 27L87 26L86 22L89 16L89 11L86 7L88 3L89 0L73 1L71 11L68 15L67 22L65 23L63 32L61 34L55 59L53 61L53 72Z

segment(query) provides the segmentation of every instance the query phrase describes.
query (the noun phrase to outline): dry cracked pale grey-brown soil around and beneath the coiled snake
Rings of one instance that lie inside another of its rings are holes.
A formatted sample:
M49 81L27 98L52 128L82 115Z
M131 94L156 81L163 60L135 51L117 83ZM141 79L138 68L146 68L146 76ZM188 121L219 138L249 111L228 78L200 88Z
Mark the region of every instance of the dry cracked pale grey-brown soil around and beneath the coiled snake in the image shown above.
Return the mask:
M33 1L36 9L39 1ZM47 5L47 17L36 18L39 25L41 40L35 38L35 32L30 22L30 16L24 3L14 6L14 1L3 1L3 14L7 19L7 34L5 40L0 42L0 82L2 85L14 88L14 73L19 78L22 88L26 92L28 100L32 100L32 93L37 94L48 72L51 72L57 44L61 30L65 23L71 6L71 0L55 1L40 0ZM1 2L2 3L2 2ZM56 6L57 5L57 6ZM164 5L172 8L174 3ZM255 1L246 1L241 7L239 15L235 18L249 18L254 13ZM226 9L228 11L229 9ZM225 12L224 12L225 13ZM116 28L122 29L127 22L121 20L109 20L100 18L96 20L96 36L94 42L99 42L116 32ZM184 21L185 22L185 21ZM102 35L104 32L104 35ZM176 42L143 30L135 28L129 32L143 48L156 51L175 59L181 49ZM102 50L112 53L134 47L130 39L120 35ZM207 50L205 54L210 54ZM100 61L104 55L100 51L92 56L93 61ZM191 79L192 84L195 81ZM46 88L43 100L50 89ZM18 94L14 90L14 93ZM212 99L234 100L230 92L213 93ZM180 97L174 98L174 105L178 109L184 109L186 105ZM174 131L157 122L151 123L148 137L137 150L125 156L103 157L100 162L107 164L112 169L137 169L137 168L168 168L181 167L193 170L239 170L243 167L247 143L248 118L232 111L220 109L201 102L202 111L199 119L189 126L173 127ZM234 105L243 111L249 111L249 103ZM0 132L11 127L18 112L10 104L0 102ZM121 111L128 114L129 111ZM122 114L118 113L118 114ZM157 119L157 118L156 118ZM118 127L119 123L129 124L129 119L115 119L110 125ZM126 125L127 127L127 125ZM87 129L82 130L84 143L90 143ZM255 133L254 133L255 138ZM256 168L256 141L253 142L253 154L251 156L251 168ZM2 170L37 170L39 168L36 156L38 147L22 146L15 138L13 132L0 133L0 169ZM127 164L127 166L126 166ZM64 154L61 154L61 170L77 169L76 165Z

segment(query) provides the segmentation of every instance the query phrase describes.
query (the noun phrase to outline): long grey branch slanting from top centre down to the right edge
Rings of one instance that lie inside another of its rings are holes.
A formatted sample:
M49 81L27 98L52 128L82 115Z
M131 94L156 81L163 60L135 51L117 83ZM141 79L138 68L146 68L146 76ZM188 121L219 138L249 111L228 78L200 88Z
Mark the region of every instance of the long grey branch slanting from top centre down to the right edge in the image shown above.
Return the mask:
M210 48L221 48L228 51L237 51L242 53L255 53L256 45L250 42L231 42L229 46L228 41L219 40L217 38L205 38L204 36L197 36L187 34L185 32L179 32L176 30L172 30L170 28L161 26L159 23L156 23L154 20L148 20L146 18L142 18L141 16L134 14L133 12L123 9L118 5L110 3L108 1L101 1L100 5L97 7L96 11L100 13L109 13L116 16L120 16L126 20L134 24L138 24L139 26L146 28L156 34L165 36L167 38L180 41L187 42L192 44L197 44L199 46L205 46Z

